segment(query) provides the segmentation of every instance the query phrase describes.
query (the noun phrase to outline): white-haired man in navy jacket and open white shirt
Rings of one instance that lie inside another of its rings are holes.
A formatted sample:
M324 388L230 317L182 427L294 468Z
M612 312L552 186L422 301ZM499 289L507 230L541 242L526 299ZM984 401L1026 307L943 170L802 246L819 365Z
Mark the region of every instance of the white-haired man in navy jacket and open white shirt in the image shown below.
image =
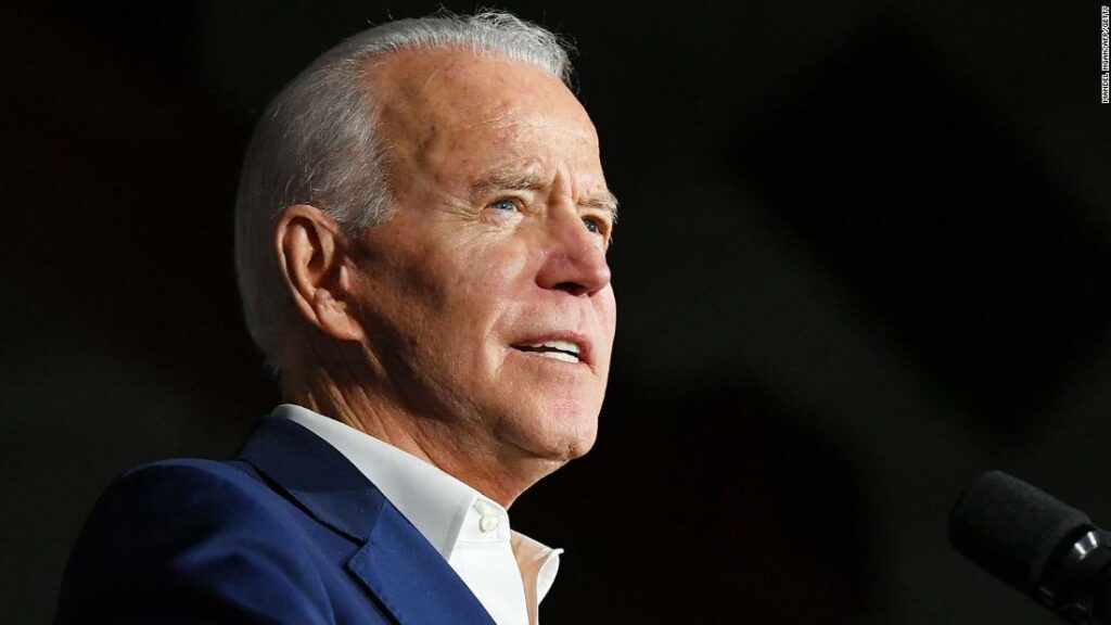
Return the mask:
M559 552L506 510L593 444L617 204L554 37L387 23L263 115L237 206L287 404L228 462L133 469L59 623L537 623Z

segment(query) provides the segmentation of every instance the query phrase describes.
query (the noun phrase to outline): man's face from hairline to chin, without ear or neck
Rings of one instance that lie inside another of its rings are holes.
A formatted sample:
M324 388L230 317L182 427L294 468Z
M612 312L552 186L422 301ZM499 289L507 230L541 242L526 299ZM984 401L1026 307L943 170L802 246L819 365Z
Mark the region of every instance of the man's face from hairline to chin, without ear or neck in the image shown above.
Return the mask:
M585 453L615 321L587 112L500 58L400 52L376 76L397 214L360 236L352 279L376 366L400 407L472 453Z

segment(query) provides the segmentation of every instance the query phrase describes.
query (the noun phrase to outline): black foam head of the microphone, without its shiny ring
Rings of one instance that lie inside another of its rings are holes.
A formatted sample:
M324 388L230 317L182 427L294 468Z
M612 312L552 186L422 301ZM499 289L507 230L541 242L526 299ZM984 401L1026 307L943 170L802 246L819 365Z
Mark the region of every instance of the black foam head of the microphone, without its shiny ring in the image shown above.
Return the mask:
M949 515L949 540L1011 586L1043 601L1045 565L1058 546L1091 527L1084 513L993 470L978 477Z

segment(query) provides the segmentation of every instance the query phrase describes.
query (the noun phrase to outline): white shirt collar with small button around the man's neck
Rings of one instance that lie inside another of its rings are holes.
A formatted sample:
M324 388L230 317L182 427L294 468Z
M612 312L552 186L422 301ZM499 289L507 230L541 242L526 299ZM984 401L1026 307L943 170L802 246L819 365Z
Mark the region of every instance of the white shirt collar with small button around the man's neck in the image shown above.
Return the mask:
M527 539L529 552L552 552L531 538L510 533L506 508L417 456L293 404L278 406L273 417L304 426L343 454L443 559L451 559L460 539L509 540L520 536Z

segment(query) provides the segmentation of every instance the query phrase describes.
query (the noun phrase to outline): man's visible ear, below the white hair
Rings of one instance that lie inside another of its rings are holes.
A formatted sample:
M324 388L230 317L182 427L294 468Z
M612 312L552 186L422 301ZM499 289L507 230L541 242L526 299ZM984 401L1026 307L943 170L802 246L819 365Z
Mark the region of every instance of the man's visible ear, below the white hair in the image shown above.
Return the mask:
M340 340L361 340L349 312L346 258L339 226L314 206L286 207L274 227L278 266L293 304L320 331Z

